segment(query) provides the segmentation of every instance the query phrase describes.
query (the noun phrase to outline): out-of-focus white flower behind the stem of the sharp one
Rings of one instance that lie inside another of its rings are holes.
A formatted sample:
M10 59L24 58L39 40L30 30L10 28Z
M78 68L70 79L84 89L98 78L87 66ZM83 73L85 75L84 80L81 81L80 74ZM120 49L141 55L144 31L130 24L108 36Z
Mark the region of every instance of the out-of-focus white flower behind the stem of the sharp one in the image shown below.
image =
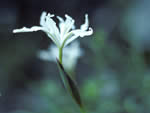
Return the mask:
M47 61L56 61L59 56L59 50L55 45L51 45L48 51L40 51L38 57ZM72 70L75 68L77 60L83 55L78 41L73 42L71 45L64 48L63 53L63 66L65 69Z

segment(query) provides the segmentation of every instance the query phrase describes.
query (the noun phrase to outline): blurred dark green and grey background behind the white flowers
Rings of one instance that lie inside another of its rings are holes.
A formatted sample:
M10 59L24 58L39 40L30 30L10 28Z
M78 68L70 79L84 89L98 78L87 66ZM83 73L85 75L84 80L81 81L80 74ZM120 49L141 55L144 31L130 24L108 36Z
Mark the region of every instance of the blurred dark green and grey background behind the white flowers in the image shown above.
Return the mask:
M149 6L150 0L1 0L0 113L79 113L56 63L37 57L52 44L47 35L12 33L39 25L43 11L68 14L77 28L89 14L94 34L78 38L84 54L72 70L89 113L149 113Z

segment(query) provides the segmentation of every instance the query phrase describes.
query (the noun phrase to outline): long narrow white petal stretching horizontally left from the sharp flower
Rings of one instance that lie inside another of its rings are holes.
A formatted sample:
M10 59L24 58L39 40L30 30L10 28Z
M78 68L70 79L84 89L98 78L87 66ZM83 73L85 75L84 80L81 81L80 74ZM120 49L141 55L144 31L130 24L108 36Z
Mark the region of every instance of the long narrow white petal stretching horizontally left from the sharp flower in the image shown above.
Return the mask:
M31 28L23 27L21 29L15 29L15 30L13 30L13 33L33 32L33 31L39 31L39 30L43 30L43 28L39 27L39 26L33 26Z

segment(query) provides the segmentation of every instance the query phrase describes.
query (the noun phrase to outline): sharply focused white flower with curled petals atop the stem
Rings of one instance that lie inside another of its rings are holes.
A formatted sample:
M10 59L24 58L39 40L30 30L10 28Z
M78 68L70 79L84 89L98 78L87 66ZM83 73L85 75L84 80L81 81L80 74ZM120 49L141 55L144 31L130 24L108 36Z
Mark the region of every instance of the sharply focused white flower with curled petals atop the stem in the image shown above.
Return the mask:
M88 15L85 15L85 23L81 25L80 29L74 30L74 19L72 19L67 14L65 15L66 20L57 16L59 23L59 28L56 26L55 21L52 19L53 14L43 12L40 19L41 26L33 26L31 28L23 27L21 29L13 30L13 33L20 32L33 32L33 31L44 31L48 37L57 45L58 48L63 48L76 38L89 36L93 34L93 29L89 28Z

